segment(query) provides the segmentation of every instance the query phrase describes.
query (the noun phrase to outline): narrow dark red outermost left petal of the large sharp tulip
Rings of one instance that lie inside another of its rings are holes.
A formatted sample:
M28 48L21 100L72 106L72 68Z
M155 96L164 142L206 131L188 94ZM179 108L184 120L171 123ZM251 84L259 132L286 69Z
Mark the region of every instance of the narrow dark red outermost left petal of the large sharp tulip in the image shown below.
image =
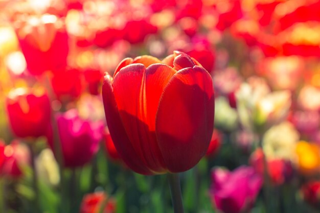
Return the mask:
M128 138L124 125L118 111L115 95L111 85L111 77L105 76L102 86L102 98L104 104L105 116L109 128L110 135L119 155L124 162L134 172L150 175L151 171L145 166L140 155L134 152L131 141Z

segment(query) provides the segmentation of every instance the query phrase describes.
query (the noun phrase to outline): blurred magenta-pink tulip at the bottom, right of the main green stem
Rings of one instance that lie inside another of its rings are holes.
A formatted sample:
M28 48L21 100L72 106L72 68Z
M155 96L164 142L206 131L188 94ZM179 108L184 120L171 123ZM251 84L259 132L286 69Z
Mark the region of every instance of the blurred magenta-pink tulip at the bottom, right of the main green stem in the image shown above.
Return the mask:
M241 166L233 172L215 168L211 179L212 202L224 213L247 212L254 204L263 182L263 178L247 166Z

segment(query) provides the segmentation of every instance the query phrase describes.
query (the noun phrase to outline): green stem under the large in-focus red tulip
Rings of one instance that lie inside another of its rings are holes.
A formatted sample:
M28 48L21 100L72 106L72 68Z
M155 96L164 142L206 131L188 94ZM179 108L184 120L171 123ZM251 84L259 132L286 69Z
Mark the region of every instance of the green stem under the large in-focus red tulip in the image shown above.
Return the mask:
M169 173L168 178L174 213L184 213L184 205L182 204L179 174Z

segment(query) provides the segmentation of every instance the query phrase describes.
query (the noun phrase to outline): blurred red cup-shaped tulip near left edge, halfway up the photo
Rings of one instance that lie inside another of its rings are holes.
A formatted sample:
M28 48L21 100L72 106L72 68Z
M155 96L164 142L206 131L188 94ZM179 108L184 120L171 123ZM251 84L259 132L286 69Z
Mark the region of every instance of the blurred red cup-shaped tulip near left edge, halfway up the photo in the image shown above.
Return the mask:
M7 97L7 113L18 137L45 135L51 121L51 106L44 90L16 88Z

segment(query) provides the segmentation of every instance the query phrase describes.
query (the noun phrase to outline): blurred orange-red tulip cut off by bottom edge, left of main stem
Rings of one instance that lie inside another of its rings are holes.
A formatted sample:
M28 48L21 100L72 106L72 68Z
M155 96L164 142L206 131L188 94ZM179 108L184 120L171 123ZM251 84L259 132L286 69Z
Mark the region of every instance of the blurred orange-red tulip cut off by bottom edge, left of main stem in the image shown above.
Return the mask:
M103 209L102 209L103 208ZM104 192L87 194L83 197L80 213L115 213L116 201Z

